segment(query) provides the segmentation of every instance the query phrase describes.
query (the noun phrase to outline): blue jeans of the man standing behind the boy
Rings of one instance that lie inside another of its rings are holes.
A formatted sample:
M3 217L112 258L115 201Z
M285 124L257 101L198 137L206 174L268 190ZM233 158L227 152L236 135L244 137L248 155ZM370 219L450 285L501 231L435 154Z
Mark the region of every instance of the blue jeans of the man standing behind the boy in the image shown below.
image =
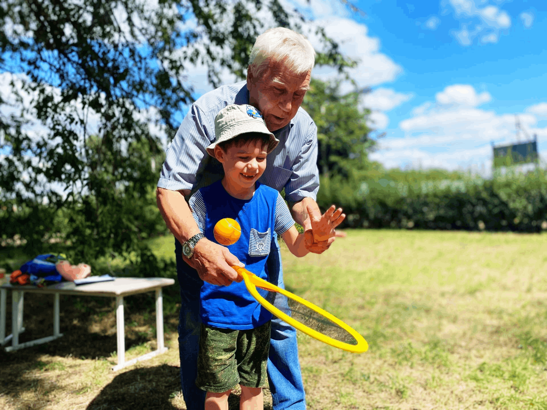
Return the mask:
M197 388L197 353L200 340L200 289L202 280L197 272L182 259L181 244L175 239L178 281L181 285L181 314L178 325L178 345L181 358L181 386L188 410L203 410L205 391ZM281 288L283 270L277 236L271 243L267 260L270 282ZM306 408L304 385L298 361L296 330L280 319L271 324L270 354L267 373L274 410Z

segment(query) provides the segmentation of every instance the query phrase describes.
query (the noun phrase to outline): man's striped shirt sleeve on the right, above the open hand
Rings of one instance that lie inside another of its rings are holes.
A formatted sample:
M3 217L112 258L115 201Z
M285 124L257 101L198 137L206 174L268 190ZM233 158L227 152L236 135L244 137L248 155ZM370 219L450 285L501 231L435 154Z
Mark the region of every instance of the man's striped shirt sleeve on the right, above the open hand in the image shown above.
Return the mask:
M285 184L285 198L289 202L298 202L306 197L315 201L318 190L317 126L312 122L300 154L293 163L293 174Z

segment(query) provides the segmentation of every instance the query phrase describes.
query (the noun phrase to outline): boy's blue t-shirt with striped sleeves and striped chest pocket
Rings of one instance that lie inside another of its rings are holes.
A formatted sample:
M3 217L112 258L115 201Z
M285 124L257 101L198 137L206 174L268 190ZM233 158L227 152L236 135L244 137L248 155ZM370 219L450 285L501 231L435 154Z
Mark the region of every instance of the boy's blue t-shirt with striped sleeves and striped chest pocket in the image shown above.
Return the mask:
M247 270L267 278L266 259L274 231L282 235L294 225L283 198L275 189L257 183L250 200L232 197L217 181L196 191L190 198L190 208L203 234L214 239L214 225L224 218L235 219L241 226L240 239L227 248ZM217 286L204 282L200 294L200 315L203 324L223 329L254 329L269 321L266 311L249 294L245 282Z

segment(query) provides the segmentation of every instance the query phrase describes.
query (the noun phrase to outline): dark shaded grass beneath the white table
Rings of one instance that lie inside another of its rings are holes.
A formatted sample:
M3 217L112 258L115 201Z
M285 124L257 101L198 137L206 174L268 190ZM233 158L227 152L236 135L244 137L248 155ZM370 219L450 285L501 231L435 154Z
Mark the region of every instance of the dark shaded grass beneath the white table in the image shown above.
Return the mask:
M11 333L10 293L6 306L8 334ZM133 330L137 325L139 329L155 326L153 296L134 295L125 298L125 302L125 349L155 340L155 330ZM32 356L42 354L82 359L110 358L117 350L114 303L114 298L108 297L61 295L60 330L63 337L12 353L0 349L0 361L4 364L32 360ZM166 331L172 331L172 325L168 323L172 317L178 319L178 314L164 315ZM53 295L25 293L23 326L25 331L20 334L19 343L53 335Z

